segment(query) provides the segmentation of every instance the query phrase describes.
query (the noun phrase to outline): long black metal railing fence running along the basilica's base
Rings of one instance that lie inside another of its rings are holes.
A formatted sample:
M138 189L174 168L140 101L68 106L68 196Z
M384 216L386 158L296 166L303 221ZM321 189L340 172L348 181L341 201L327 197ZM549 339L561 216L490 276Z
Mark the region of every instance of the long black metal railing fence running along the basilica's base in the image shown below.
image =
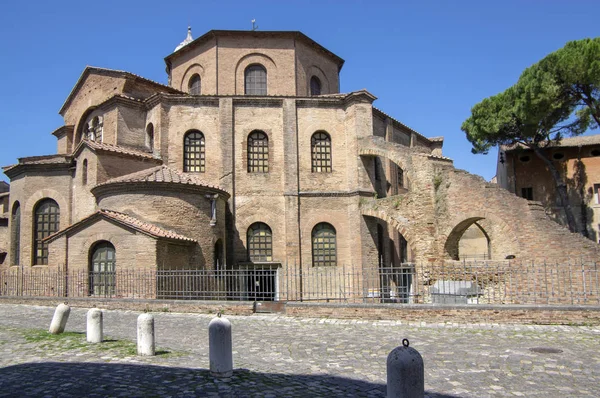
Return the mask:
M472 261L398 267L0 271L0 295L341 303L600 305L598 262Z

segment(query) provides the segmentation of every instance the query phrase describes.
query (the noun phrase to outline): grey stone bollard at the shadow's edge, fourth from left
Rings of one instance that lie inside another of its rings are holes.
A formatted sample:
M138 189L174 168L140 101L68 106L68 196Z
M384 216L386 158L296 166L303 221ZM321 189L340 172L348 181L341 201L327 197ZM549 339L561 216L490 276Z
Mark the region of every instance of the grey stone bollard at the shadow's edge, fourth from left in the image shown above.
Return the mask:
M208 351L210 374L230 377L233 374L231 322L222 318L220 313L208 324Z

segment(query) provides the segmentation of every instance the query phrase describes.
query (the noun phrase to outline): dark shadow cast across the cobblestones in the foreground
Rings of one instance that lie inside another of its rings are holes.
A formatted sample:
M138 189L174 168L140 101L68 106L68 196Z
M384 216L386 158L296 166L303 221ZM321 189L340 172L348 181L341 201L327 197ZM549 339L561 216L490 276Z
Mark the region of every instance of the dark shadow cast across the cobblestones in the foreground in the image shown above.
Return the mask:
M384 384L333 375L234 369L217 379L207 369L116 363L42 362L0 369L0 397L383 397ZM431 398L455 398L427 393Z

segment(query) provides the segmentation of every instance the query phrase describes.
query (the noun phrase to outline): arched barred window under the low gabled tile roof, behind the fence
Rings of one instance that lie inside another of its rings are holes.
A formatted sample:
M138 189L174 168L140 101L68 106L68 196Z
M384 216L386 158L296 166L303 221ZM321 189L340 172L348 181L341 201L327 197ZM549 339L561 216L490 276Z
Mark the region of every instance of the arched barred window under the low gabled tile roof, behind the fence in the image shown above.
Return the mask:
M112 296L115 294L116 273L115 247L108 241L97 242L90 250L90 295Z

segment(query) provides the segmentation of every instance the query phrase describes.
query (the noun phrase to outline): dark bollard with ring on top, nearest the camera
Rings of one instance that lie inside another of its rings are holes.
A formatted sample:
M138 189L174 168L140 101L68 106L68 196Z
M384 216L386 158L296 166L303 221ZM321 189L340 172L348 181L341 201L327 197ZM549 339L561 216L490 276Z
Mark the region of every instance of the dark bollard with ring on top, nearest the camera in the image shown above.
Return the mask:
M387 359L387 397L423 398L425 396L425 366L421 354L402 340Z

